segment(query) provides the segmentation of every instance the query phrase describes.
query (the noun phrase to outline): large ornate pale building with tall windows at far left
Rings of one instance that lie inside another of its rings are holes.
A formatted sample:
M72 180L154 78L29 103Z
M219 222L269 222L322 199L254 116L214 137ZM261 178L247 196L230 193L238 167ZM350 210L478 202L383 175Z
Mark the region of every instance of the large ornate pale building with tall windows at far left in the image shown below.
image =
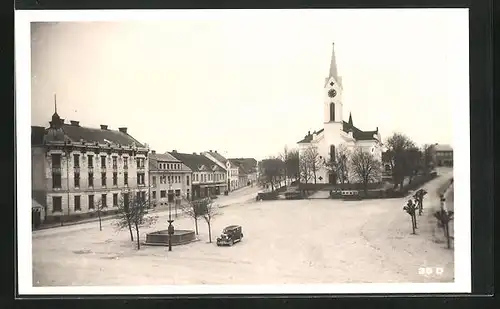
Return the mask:
M117 210L131 194L147 199L149 150L127 128L67 124L56 111L49 128L32 132L32 191L45 221Z

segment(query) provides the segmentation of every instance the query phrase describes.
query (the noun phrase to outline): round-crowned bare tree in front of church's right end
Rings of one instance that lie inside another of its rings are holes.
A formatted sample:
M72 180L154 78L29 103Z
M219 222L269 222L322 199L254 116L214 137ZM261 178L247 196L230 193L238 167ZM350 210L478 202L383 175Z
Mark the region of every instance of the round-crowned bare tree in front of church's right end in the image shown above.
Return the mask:
M368 194L368 183L376 181L380 176L381 163L371 153L356 147L351 155L351 171L357 180L363 183L365 195Z

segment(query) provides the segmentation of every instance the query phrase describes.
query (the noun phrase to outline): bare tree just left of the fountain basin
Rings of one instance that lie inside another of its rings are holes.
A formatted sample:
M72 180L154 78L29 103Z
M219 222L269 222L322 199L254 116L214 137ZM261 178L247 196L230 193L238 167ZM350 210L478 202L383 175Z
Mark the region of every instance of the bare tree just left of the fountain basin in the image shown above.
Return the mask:
M141 249L140 228L148 227L158 221L157 216L146 216L148 200L141 194L129 197L129 200L124 200L124 205L120 207L123 211L117 221L118 228L128 228L130 231L130 238L133 241L132 229L136 233L137 250ZM126 203L128 202L128 203Z

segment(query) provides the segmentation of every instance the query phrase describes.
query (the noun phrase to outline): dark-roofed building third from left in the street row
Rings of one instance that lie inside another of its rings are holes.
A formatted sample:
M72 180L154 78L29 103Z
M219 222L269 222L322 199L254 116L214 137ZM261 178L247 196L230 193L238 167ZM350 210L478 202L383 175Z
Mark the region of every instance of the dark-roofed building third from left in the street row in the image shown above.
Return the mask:
M227 190L226 170L206 156L197 153L180 153L176 150L170 152L170 155L191 169L193 173L191 182L193 200L219 195Z

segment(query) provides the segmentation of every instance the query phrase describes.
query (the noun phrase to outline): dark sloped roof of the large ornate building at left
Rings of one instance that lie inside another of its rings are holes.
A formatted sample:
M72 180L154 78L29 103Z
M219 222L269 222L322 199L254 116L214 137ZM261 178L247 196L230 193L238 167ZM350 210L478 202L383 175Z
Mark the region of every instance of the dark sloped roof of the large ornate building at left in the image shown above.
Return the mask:
M135 138L120 131L88 128L70 124L64 124L62 129L65 135L73 142L79 142L83 139L85 142L91 143L98 142L100 144L104 144L106 141L109 141L113 144L123 146L132 146L135 144L137 147L144 147L144 145L138 142Z

